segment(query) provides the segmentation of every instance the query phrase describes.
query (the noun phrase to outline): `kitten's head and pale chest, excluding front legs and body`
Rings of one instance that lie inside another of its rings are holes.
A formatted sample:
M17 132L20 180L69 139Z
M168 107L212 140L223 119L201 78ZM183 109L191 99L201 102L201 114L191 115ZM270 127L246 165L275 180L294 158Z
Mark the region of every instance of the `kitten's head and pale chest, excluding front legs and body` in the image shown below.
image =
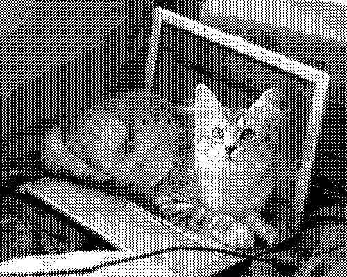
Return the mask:
M214 211L261 208L275 185L271 163L276 127L285 116L281 96L266 90L248 109L228 109L208 87L196 87L194 165L201 200Z

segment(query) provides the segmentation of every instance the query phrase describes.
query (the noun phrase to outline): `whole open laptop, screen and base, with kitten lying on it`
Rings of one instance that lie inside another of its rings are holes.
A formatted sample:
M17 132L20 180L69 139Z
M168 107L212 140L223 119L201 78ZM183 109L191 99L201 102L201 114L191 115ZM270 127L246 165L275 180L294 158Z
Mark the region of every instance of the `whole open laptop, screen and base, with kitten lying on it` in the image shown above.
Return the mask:
M271 246L301 226L321 129L329 76L265 48L222 33L162 8L156 8L149 42L144 91L185 107L198 84L219 93L223 104L246 107L271 87L285 93L290 110L279 127L279 185L264 211L269 226L281 231ZM184 91L184 92L183 92ZM78 186L67 180L42 179L26 184L37 197L71 220L97 233L116 249L144 254L169 247L223 244L180 229L126 199ZM274 208L279 207L279 208ZM212 276L244 258L217 251L177 250L151 257L175 276ZM138 272L137 272L138 273Z

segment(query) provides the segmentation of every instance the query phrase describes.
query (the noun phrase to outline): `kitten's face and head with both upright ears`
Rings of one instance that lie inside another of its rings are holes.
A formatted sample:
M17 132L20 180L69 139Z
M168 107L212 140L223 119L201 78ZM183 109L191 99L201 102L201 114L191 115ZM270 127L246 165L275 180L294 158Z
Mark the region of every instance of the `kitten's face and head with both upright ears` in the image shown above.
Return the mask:
M268 89L248 109L226 108L204 84L196 87L194 149L207 168L265 159L276 142L276 126L285 116L280 93Z

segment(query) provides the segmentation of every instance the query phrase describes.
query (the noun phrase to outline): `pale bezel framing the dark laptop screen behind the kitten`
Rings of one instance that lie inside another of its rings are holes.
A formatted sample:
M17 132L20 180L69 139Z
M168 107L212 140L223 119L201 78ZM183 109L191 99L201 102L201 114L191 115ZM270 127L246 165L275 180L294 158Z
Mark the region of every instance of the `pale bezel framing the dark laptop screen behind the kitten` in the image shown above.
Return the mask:
M194 35L210 39L232 50L248 55L256 60L275 66L278 69L288 73L298 75L315 84L312 105L310 107L310 116L307 122L307 132L304 143L304 153L301 159L301 166L298 172L298 178L294 190L294 202L292 208L289 227L297 230L301 226L305 211L305 202L307 189L312 177L312 168L314 166L314 157L316 154L317 143L323 120L325 102L327 98L327 88L330 76L326 73L313 69L310 66L301 64L288 57L273 53L265 48L246 42L242 37L226 34L204 24L188 19L174 12L156 8L153 13L153 22L151 36L149 41L149 56L146 64L146 75L144 82L144 91L151 97L151 89L155 80L155 66L159 50L160 31L162 24L167 22L183 30L187 30Z

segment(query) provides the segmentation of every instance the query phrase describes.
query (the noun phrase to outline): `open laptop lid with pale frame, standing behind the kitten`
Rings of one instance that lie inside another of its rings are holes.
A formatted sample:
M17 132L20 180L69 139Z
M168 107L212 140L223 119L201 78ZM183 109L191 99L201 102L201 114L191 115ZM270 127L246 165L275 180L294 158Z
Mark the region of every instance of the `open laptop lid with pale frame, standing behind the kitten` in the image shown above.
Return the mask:
M173 12L154 12L145 88L172 102L194 99L206 84L229 107L249 107L266 89L285 93L289 114L278 128L280 181L272 199L289 209L287 226L298 229L305 208L321 129L326 73L289 60L240 37L222 33Z

